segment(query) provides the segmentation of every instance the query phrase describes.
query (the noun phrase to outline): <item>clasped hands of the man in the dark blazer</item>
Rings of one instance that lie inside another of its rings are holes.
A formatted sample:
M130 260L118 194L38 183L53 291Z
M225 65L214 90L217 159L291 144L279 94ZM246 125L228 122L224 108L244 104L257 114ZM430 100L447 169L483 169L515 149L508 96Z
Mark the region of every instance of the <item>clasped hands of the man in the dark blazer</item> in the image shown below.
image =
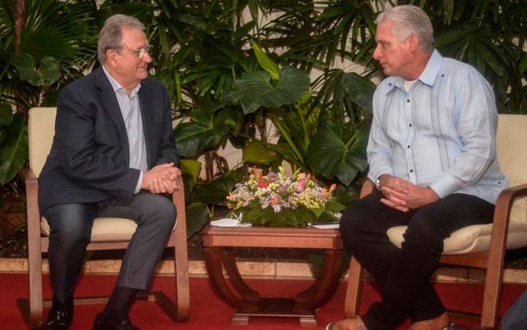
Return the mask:
M180 187L176 180L181 176L181 171L174 163L160 164L143 173L141 189L148 190L152 194L171 194Z

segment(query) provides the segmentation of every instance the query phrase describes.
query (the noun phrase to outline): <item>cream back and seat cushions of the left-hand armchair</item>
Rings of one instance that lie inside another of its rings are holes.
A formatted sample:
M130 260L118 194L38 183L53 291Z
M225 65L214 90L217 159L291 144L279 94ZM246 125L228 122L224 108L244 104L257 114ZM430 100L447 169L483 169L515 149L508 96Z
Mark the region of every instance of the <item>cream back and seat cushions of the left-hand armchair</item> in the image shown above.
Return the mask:
M55 130L55 118L57 109L55 107L34 107L30 110L30 121L28 125L28 140L30 145L30 168L35 176L40 175L46 158L51 150ZM49 127L50 129L31 129L32 125ZM42 211L42 210L41 210ZM46 218L41 217L41 233L49 236L49 225ZM125 218L96 218L91 230L91 242L116 242L129 241L136 232L134 220Z

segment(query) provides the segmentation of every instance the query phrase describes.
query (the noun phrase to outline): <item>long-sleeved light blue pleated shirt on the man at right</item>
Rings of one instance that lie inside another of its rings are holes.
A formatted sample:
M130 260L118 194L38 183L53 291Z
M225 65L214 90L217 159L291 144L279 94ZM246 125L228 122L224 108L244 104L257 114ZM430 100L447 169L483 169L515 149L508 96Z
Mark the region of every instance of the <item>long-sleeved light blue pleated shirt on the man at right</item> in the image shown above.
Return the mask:
M368 178L397 176L496 203L508 187L496 158L497 112L492 89L465 63L432 53L410 91L402 77L388 77L373 96L367 145Z

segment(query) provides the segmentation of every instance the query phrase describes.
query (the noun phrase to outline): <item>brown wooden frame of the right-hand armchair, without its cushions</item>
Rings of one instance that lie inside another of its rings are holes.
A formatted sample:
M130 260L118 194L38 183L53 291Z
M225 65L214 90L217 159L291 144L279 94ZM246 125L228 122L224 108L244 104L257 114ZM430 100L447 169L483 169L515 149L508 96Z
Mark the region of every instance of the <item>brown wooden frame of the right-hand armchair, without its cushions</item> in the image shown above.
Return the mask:
M363 185L360 198L370 194L375 185L370 181ZM497 312L500 307L500 293L503 275L503 261L507 243L507 231L514 200L527 196L527 185L518 185L503 190L497 199L493 229L488 252L469 253L462 255L441 256L440 263L462 265L474 268L485 268L487 275L485 279L485 291L483 293L483 308L481 312L481 327L495 328L497 324ZM348 286L346 289L346 301L344 313L346 317L358 315L360 303L360 291L362 289L363 268L355 257L351 257L349 266ZM453 311L453 314L464 314ZM466 315L473 317L474 315Z

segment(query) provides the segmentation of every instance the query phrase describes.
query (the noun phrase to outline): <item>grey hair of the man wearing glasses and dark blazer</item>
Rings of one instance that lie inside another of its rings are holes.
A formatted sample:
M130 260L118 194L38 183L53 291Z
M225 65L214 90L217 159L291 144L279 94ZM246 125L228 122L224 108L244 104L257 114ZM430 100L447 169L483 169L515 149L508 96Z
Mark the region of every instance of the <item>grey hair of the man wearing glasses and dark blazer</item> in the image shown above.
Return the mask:
M97 42L97 58L103 65L106 62L106 52L108 49L119 49L122 47L122 28L131 27L143 31L145 26L137 18L116 14L110 16L100 29Z

